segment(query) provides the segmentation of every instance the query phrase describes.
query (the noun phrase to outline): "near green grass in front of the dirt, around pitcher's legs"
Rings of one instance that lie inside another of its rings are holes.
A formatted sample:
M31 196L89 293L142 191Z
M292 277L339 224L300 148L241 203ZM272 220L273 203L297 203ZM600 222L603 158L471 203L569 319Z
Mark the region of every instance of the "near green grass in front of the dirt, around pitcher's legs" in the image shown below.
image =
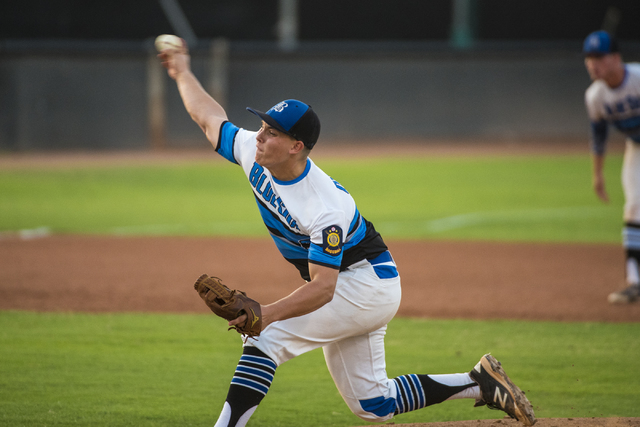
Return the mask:
M470 370L491 351L538 417L640 416L640 324L394 319L390 376ZM0 425L205 426L241 352L207 315L0 312ZM468 400L396 423L502 418ZM301 420L304 420L301 421ZM278 368L253 426L354 426L317 350Z

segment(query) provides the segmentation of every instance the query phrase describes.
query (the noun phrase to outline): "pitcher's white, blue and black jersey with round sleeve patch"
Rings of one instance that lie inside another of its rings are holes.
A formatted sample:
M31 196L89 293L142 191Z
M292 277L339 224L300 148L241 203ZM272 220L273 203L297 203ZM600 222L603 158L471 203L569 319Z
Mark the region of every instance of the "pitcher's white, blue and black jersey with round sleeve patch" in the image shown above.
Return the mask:
M302 175L292 181L281 181L257 164L256 136L257 132L226 122L216 151L242 166L271 237L305 280L310 280L309 262L344 271L387 251L347 190L311 159ZM397 272L394 268L386 274Z

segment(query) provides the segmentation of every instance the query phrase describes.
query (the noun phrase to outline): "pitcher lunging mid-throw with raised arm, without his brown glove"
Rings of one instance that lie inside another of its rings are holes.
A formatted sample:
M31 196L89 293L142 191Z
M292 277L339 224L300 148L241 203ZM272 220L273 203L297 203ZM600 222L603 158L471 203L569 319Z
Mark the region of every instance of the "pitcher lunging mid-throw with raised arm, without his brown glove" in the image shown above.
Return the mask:
M244 426L277 367L319 347L345 402L364 420L471 398L525 425L535 422L531 404L491 355L469 373L389 379L384 336L400 304L400 276L351 195L308 157L320 133L316 113L288 99L266 113L249 109L262 126L240 129L191 72L186 45L159 56L215 150L244 170L276 247L304 279L290 295L261 306L262 333L244 345L216 426Z

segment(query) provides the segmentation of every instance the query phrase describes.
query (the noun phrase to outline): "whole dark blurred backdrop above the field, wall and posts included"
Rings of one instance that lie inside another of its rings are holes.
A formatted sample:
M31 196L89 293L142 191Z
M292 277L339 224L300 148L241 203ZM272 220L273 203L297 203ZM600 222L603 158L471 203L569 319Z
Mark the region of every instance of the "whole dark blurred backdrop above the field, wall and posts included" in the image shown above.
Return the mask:
M640 60L638 0L4 0L0 153L206 147L153 40L238 126L297 98L325 141L586 140L591 31Z

